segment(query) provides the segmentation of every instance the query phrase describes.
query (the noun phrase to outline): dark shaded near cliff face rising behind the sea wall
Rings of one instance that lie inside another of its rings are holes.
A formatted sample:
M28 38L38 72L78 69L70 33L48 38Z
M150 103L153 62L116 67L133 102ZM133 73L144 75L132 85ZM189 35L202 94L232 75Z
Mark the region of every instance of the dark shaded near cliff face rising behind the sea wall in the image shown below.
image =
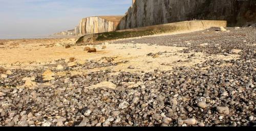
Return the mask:
M133 0L118 29L203 19L227 20L229 25L256 22L256 1Z

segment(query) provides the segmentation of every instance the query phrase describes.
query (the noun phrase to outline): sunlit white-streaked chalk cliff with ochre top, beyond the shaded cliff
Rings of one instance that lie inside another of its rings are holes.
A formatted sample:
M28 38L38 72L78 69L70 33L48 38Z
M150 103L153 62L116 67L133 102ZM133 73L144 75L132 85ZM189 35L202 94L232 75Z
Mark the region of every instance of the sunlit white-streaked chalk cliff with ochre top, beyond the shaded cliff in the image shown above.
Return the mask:
M76 35L87 35L115 31L123 16L94 16L82 18L75 28Z

